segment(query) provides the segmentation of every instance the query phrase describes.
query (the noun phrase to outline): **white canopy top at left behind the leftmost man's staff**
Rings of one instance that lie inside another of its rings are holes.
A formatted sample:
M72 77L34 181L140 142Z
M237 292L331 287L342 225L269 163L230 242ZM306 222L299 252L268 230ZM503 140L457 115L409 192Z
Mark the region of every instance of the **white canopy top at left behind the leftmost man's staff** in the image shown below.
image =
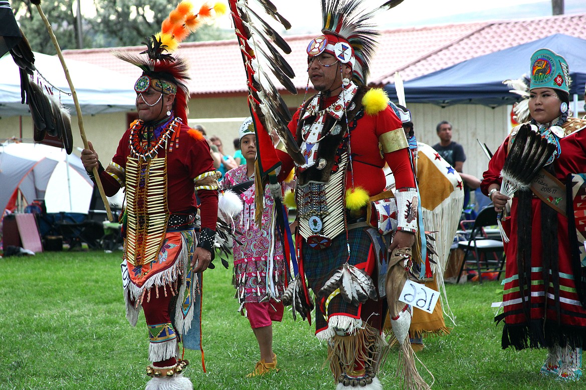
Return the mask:
M76 60L66 60L67 69L73 87L76 90L81 113L132 111L135 108L135 80L98 65ZM35 53L35 66L42 78L35 74L35 81L47 88L54 87L69 92L63 67L58 57ZM21 103L21 79L18 66L10 54L0 58L0 116L29 115L28 105ZM43 80L43 78L46 79ZM49 84L50 83L50 84ZM53 93L60 94L61 102L76 114L73 98L53 88Z

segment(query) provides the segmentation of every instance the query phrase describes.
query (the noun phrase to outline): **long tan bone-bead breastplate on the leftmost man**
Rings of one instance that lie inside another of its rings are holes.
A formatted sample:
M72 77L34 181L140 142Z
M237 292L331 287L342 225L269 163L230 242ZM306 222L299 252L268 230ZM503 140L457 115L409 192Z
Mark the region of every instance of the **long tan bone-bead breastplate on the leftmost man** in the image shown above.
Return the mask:
M128 157L126 259L135 266L158 257L169 220L166 158Z

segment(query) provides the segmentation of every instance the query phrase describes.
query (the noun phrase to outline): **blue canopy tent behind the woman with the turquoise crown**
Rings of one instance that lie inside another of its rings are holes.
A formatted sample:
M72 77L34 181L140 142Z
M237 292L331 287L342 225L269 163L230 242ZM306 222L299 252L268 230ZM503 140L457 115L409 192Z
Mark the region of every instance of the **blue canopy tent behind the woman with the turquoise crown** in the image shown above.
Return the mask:
M554 34L533 42L471 58L449 68L404 82L407 103L432 103L441 106L482 104L500 106L519 101L503 80L529 74L531 55L546 47L563 56L570 67L570 95L582 98L586 83L586 40ZM396 101L394 84L385 85ZM570 101L572 98L570 98ZM574 100L577 100L575 98Z

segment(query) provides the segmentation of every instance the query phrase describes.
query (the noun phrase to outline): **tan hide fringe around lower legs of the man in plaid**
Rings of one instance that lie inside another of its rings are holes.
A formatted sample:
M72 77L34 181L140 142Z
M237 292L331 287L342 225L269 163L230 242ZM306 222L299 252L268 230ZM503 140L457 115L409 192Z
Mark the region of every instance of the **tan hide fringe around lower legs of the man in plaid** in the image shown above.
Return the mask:
M337 378L343 373L352 375L356 360L363 361L377 372L388 352L386 341L371 326L363 327L348 336L333 336L328 341L328 360L334 382L337 383Z

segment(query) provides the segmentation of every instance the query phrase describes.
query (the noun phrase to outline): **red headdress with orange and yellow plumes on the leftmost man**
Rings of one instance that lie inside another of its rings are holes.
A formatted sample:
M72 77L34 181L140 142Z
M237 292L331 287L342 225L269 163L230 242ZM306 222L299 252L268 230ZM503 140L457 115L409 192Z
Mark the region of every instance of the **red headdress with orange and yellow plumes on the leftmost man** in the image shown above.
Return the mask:
M214 5L204 3L196 10L192 2L184 0L163 20L161 31L147 37L147 50L140 56L124 52L114 55L142 69L142 75L134 85L137 92L144 92L154 87L163 94L175 94L175 116L187 123L189 100L188 63L183 58L175 58L172 52L190 33L195 32L203 22L213 20L226 13L227 6L222 2Z

